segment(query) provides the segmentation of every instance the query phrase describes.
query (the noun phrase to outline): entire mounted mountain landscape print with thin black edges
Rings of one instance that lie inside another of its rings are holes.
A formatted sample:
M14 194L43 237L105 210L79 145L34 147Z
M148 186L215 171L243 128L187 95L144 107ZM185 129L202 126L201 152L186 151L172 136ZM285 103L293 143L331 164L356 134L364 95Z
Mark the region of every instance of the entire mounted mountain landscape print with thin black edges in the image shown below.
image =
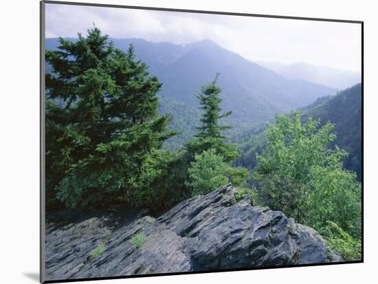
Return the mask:
M363 22L41 2L41 282L363 261Z

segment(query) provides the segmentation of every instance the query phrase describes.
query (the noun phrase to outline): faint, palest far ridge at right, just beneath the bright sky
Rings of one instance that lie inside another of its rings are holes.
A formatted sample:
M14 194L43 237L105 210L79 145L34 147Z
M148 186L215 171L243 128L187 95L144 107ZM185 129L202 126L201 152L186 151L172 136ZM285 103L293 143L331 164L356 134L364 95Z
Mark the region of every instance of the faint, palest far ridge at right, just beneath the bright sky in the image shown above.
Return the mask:
M306 62L296 62L293 64L258 60L254 62L271 69L288 79L307 80L309 82L331 86L340 90L361 82L360 72L317 66L307 64Z

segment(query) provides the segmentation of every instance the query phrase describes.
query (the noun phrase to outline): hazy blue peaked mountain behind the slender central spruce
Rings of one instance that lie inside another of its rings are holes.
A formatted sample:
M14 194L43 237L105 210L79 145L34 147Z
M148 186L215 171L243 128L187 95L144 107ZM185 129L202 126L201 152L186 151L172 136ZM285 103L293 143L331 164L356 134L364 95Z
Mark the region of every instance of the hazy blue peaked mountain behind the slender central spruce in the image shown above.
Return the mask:
M136 58L146 62L149 73L162 82L158 93L162 98L159 111L162 114L171 113L175 119L172 119L168 127L182 131L166 141L166 147L171 150L179 149L194 134L201 116L195 94L198 86L212 80L217 72L221 73L221 107L233 111L230 117L221 122L232 126L225 132L230 137L271 121L276 114L311 104L318 97L337 93L336 88L329 86L305 80L288 80L223 49L211 40L188 45L152 43L140 38L109 40L122 51L127 51L132 43ZM57 46L58 38L46 39L46 49L56 50ZM176 112L175 109L180 111Z

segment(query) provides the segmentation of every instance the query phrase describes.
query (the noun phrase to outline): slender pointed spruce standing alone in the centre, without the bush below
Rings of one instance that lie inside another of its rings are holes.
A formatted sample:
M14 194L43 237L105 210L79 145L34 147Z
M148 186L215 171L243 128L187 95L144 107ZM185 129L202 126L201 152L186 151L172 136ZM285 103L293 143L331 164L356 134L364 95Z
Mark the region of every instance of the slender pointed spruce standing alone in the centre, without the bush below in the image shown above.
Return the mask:
M203 151L214 149L216 154L223 156L223 161L232 161L236 156L236 146L232 143L226 143L226 137L223 130L229 129L230 126L222 126L219 120L231 115L231 111L221 114L222 99L219 97L221 88L216 86L219 73L216 73L214 80L201 87L201 93L197 95L203 115L200 119L201 126L197 129L199 132L194 135L194 139L186 145L188 153L194 157L195 154L201 154Z

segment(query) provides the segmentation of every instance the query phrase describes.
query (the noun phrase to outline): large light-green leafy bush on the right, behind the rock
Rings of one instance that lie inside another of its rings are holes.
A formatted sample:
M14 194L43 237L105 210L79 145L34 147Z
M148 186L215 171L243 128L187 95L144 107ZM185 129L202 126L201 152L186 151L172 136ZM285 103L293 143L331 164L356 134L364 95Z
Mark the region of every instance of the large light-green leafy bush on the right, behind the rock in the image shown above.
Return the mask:
M315 228L327 220L360 235L361 188L355 174L342 169L344 150L329 149L333 125L302 123L300 112L277 116L267 130L268 145L258 155L254 179L262 202Z

